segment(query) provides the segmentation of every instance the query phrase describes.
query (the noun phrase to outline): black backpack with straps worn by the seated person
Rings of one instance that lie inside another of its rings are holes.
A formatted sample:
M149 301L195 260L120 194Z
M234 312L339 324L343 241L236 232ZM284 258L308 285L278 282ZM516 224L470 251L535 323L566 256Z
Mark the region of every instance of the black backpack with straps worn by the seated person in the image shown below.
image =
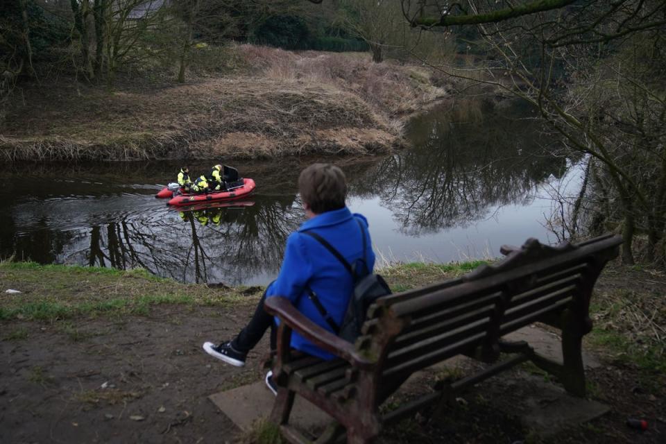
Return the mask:
M366 259L366 232L363 229L361 221L359 221L359 219L356 219L356 221L359 223L361 237L363 238L363 259L355 261L353 266L347 262L347 259L345 259L338 250L333 248L333 246L319 234L311 231L302 232L303 234L314 237L314 239L329 250L352 275L352 279L354 280L354 293L349 300L349 305L347 306L347 311L345 311L345 317L343 318L341 325L337 325L333 320L314 291L309 288L307 289L308 298L314 303L314 306L326 320L328 325L330 325L335 334L342 339L345 339L345 341L352 343L356 341L357 337L361 334L361 327L366 320L368 307L370 307L377 298L391 294L391 289L388 288L388 284L386 284L384 278L378 274L370 273L368 270L368 261ZM360 272L358 271L359 266L361 267Z

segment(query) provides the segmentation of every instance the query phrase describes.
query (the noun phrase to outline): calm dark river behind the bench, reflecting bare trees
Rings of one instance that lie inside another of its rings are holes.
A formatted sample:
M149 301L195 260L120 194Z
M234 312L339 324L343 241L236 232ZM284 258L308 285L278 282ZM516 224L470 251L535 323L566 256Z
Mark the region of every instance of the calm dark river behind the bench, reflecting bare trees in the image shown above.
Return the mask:
M370 222L383 262L499 256L502 244L554 241L549 190L568 161L553 155L529 109L464 99L413 119L412 148L388 156L233 162L257 182L250 198L182 212L155 193L179 162L14 164L0 171L0 258L143 267L184 282L266 284L304 220L296 191L311 162L335 162L348 205ZM190 171L214 163L192 162Z

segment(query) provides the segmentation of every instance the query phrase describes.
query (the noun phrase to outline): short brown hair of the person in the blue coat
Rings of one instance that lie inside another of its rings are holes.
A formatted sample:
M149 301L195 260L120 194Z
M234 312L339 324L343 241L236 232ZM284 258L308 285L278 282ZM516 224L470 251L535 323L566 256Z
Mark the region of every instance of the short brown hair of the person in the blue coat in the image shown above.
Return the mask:
M298 176L298 192L315 214L345 207L347 179L332 164L311 164Z

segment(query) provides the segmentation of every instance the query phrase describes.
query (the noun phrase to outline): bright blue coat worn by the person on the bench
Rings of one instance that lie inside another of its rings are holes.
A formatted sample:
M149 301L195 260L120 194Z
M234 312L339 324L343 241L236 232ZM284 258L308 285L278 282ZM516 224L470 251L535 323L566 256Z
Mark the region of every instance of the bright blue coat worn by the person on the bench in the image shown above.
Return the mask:
M302 223L296 232L289 235L280 275L268 287L266 297L289 298L298 311L307 318L332 331L307 297L306 289L309 287L316 293L334 321L340 325L354 288L352 275L329 250L302 232L305 230L316 232L338 250L350 264L353 264L364 255L361 228L356 219L359 219L364 226L366 260L368 269L372 271L375 266L375 253L367 229L368 221L361 214L352 214L347 207L344 207L341 210L318 214ZM316 347L296 332L291 335L291 347L323 359L333 358L333 355Z

